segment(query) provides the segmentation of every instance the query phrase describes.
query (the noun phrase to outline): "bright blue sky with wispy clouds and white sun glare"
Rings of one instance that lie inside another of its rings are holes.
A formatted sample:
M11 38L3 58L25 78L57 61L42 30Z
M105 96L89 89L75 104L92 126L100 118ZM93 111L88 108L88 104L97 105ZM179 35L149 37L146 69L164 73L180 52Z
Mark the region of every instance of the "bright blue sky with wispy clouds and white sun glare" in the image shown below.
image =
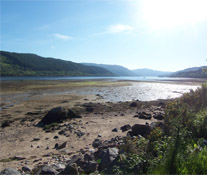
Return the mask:
M0 50L129 69L207 64L207 0L0 3Z

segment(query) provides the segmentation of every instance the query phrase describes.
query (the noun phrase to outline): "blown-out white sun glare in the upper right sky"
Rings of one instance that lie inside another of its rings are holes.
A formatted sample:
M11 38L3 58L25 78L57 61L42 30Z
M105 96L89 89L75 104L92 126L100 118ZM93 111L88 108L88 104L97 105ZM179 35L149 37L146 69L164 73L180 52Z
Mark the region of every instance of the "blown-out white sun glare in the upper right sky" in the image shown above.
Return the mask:
M140 7L151 29L176 28L207 19L207 0L142 0Z

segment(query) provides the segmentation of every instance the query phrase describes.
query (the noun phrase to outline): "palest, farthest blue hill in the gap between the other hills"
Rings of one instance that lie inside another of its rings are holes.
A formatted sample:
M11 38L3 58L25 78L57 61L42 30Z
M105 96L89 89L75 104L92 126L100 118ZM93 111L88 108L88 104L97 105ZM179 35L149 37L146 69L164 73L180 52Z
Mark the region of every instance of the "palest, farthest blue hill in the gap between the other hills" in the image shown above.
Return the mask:
M133 72L140 76L161 76L161 75L172 73L172 72L163 72L163 71L157 71L152 69L135 69L133 70Z

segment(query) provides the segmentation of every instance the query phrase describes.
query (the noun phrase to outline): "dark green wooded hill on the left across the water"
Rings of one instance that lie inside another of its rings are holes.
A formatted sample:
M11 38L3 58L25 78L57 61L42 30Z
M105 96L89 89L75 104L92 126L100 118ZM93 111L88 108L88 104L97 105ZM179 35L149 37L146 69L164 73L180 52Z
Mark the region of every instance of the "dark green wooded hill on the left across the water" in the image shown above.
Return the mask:
M108 70L35 54L0 51L1 76L114 76Z

